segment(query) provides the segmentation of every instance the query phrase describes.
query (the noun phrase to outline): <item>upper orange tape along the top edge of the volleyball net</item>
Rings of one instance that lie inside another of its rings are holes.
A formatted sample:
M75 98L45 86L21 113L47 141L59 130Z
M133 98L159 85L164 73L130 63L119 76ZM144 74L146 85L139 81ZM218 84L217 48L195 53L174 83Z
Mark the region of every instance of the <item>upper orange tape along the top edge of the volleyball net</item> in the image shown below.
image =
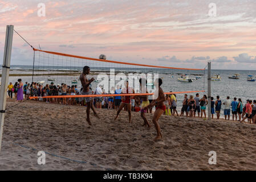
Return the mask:
M161 67L161 66L156 66L156 65L146 65L146 64L136 64L136 63L124 63L124 62L121 62L121 61L111 61L111 60L96 59L96 58L92 58L92 57L68 55L68 54L66 54L66 53L60 53L60 52L42 51L42 50L39 50L39 49L36 49L36 48L33 48L33 50L34 50L34 51L40 51L40 52L50 53L50 54L52 54L52 55L75 57L75 58L79 58L79 59L88 59L88 60L101 61L101 62L107 62L107 63L137 65L137 66L141 66L141 67L168 68L168 69L185 69L185 70L205 70L205 69L193 69L193 68Z

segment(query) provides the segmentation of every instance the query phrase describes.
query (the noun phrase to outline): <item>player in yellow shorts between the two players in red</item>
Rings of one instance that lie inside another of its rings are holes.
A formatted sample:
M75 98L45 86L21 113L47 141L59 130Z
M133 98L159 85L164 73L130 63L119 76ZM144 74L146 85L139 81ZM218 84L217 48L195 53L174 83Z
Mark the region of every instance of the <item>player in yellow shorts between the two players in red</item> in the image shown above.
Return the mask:
M140 78L139 82L140 82L140 87L141 87L141 93L148 93L148 91L146 89L147 80L145 78ZM143 126L151 127L149 125L148 119L146 118L147 109L145 109L149 105L148 96L139 96L139 97L142 100L140 116L144 120Z

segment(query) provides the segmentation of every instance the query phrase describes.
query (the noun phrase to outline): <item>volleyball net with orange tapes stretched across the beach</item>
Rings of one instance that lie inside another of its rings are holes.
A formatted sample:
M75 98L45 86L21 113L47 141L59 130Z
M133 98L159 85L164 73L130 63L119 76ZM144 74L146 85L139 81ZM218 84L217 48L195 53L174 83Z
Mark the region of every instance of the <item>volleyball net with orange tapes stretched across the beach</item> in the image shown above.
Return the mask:
M94 77L90 89L95 91L101 86L103 94L92 95L60 95L33 96L33 98L67 98L67 97L113 97L113 96L152 96L156 86L156 78L162 79L161 88L165 94L171 93L194 93L205 92L205 69L173 68L160 65L147 65L140 63L127 63L123 61L112 61L107 59L96 59L92 57L69 55L60 52L34 50L34 65L32 81L46 86L54 84L61 86L76 85L80 90L82 84L79 80L83 67L90 67L88 80ZM104 58L104 56L103 56ZM139 79L147 80L147 92L142 92L139 86ZM125 81L133 88L133 93L114 94L115 89L124 88Z

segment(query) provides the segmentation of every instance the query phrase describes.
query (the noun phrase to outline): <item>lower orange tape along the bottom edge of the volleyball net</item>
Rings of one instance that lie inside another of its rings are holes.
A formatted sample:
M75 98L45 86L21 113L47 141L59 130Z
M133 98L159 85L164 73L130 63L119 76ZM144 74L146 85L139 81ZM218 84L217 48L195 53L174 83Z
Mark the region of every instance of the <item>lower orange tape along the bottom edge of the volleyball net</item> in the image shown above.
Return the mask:
M205 90L200 91L186 91L186 92L165 92L164 94L179 94L179 93L194 93L194 92L205 92ZM78 97L109 97L109 96L152 96L153 93L125 93L125 94L93 94L93 95L75 95L75 96L44 96L44 97L29 97L33 98L78 98Z

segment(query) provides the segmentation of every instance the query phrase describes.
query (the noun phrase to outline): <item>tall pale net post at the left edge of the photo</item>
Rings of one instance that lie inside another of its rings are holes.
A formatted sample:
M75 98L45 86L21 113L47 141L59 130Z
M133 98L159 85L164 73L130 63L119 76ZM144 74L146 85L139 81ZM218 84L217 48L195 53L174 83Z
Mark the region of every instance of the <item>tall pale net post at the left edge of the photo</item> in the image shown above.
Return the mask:
M13 25L6 26L5 37L5 52L3 55L3 68L1 78L1 90L0 90L0 152L3 136L3 122L5 121L5 107L6 107L6 92L9 80L10 62L11 62L11 47L13 46Z

